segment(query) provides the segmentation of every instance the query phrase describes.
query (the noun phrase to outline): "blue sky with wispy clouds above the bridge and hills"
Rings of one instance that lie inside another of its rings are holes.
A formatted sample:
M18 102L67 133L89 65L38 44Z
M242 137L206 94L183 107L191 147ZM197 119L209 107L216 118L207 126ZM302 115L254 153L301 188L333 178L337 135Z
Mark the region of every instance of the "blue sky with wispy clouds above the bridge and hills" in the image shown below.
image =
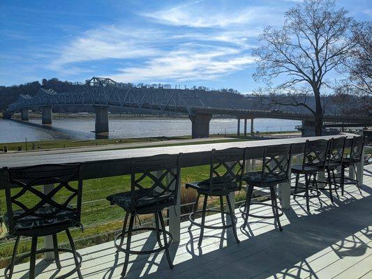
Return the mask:
M1 0L0 84L101 76L250 92L258 34L297 2ZM370 0L336 3L372 18Z

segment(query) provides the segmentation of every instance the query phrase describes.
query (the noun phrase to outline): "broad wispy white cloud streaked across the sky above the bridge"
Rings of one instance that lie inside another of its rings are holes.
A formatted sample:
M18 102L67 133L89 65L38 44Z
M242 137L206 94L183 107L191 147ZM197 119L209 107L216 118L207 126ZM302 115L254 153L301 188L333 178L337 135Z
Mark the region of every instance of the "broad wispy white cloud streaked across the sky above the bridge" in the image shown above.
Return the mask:
M121 82L215 80L255 62L251 48L277 13L268 7L213 8L207 0L140 13L142 21L156 24L87 31L61 47L48 67L65 75L89 73L88 62L114 59L109 75Z

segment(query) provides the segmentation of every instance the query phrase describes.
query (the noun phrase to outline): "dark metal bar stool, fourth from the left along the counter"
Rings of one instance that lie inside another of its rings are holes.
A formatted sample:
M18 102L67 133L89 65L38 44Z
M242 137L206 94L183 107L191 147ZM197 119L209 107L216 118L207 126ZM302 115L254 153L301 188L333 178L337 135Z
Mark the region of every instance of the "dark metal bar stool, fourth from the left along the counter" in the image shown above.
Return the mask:
M283 144L278 146L267 146L264 149L262 157L262 169L258 172L246 172L244 174L244 181L247 184L246 202L241 204L239 211L244 218L243 228L248 223L248 217L255 218L274 218L279 230L283 231L279 217L283 215L283 211L278 206L276 201L275 188L279 183L290 181L290 160L292 158L292 144ZM269 188L271 204L264 202L251 202L253 195L253 188ZM271 206L273 211L272 216L258 216L250 214L249 209L252 204L260 204L264 206Z

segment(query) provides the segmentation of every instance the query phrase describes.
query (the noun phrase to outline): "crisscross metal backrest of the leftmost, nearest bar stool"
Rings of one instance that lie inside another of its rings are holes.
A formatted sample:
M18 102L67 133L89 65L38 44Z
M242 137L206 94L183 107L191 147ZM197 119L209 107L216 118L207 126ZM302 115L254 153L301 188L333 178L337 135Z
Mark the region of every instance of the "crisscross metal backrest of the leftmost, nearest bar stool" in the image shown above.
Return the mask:
M82 206L82 164L78 165L36 165L32 167L17 167L5 169L6 205L9 232L15 232L15 226L27 216L40 219L57 218L61 211L75 213L80 221ZM77 187L70 181L77 180ZM54 184L55 187L44 193L38 186ZM13 190L11 188L14 188ZM64 198L54 199L65 190ZM14 192L17 192L14 194ZM75 206L70 202L76 199ZM14 210L22 209L22 213L13 214ZM44 210L45 209L45 210Z

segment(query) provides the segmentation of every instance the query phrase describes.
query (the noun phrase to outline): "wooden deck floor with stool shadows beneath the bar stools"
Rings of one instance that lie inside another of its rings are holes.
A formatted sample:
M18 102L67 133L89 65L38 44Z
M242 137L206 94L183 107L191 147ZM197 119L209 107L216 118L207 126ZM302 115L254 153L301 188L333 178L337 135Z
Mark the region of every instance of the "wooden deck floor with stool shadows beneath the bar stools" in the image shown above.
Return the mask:
M311 214L305 211L302 198L292 199L292 209L281 217L283 232L272 219L251 218L247 229L238 229L237 244L229 230L206 230L198 248L199 229L188 231L181 224L181 241L172 246L174 269L169 269L165 255L131 256L126 278L372 278L372 165L365 167L364 186L347 186L345 195L327 193L311 199ZM270 208L253 206L256 213L271 214ZM240 227L242 220L237 214ZM221 223L220 215L209 216L209 224ZM151 249L154 235L137 234L133 247ZM112 243L80 250L85 278L120 278L124 253L115 252ZM70 270L73 260L62 255L63 270ZM54 278L54 264L37 265L38 278ZM28 264L15 269L14 278L27 277ZM3 271L0 271L1 275ZM3 277L1 277L3 278ZM71 276L70 278L77 278Z

